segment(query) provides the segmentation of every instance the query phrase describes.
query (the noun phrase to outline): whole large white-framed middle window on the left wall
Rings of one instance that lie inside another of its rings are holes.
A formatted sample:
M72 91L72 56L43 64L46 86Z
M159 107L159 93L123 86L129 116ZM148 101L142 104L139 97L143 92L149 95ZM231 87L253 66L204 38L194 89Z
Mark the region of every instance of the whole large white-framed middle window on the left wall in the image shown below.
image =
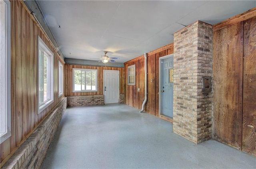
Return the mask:
M38 36L38 113L54 101L53 58L52 51Z

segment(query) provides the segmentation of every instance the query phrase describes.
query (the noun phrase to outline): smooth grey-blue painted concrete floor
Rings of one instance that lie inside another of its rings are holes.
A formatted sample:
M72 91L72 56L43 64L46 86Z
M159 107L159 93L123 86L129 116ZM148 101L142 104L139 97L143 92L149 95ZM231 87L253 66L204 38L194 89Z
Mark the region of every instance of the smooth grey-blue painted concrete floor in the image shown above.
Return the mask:
M256 158L214 140L198 145L172 123L125 104L71 107L42 169L256 168Z

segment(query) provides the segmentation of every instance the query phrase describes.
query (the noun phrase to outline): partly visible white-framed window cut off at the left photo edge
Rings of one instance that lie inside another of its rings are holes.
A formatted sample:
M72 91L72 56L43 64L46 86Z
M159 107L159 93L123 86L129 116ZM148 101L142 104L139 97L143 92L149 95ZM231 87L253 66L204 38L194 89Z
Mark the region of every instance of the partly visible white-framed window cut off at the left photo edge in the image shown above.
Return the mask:
M0 142L11 136L10 2L0 0Z

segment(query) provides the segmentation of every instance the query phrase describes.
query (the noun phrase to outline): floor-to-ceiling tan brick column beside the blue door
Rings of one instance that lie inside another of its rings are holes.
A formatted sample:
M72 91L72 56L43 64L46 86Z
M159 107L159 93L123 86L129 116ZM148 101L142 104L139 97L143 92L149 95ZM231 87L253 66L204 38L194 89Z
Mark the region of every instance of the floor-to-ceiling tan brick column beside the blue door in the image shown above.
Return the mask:
M198 144L212 138L212 25L201 21L174 33L173 131Z

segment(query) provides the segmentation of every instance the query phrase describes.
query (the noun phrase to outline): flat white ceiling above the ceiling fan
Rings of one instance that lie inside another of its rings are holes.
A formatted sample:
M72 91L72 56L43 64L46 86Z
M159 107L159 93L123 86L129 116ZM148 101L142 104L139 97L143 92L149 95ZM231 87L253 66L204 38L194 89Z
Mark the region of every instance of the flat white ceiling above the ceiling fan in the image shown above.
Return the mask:
M256 6L256 0L37 2L65 58L98 61L108 51L119 63L172 43L182 25L216 24Z

